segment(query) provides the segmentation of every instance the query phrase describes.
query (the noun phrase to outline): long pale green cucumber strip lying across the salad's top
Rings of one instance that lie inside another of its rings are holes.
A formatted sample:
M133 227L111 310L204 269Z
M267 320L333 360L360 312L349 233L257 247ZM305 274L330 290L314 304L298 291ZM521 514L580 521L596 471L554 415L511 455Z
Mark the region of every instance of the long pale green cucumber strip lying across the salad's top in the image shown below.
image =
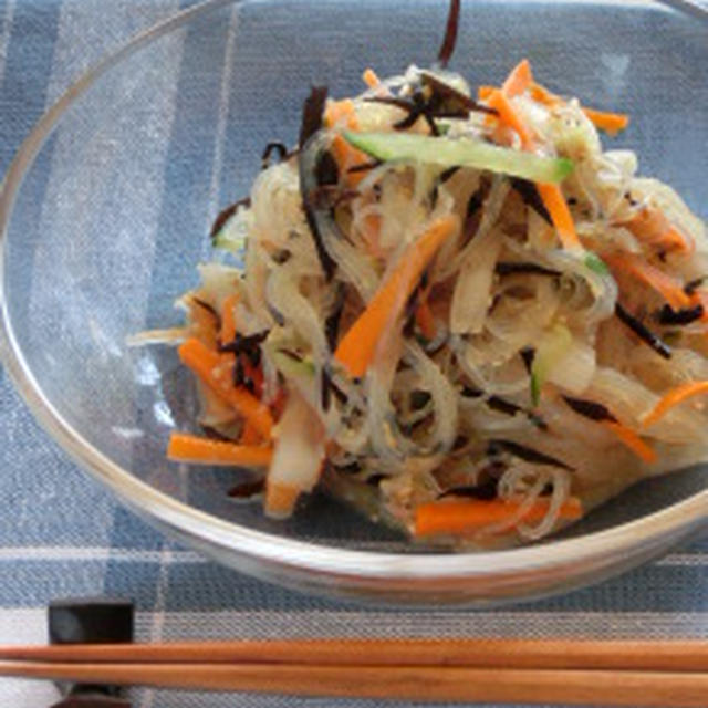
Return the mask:
M546 184L561 183L573 171L573 162L564 157L541 157L468 138L352 131L345 131L343 136L353 147L383 162L459 165Z

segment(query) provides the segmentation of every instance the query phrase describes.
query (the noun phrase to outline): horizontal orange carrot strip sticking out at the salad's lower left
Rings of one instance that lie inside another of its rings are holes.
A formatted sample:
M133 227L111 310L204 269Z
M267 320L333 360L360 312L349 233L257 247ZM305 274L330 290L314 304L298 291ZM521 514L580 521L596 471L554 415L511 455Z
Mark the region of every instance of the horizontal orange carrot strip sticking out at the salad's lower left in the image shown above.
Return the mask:
M270 465L272 456L270 447L236 445L186 433L173 433L167 446L167 457L170 460L194 465L266 467Z

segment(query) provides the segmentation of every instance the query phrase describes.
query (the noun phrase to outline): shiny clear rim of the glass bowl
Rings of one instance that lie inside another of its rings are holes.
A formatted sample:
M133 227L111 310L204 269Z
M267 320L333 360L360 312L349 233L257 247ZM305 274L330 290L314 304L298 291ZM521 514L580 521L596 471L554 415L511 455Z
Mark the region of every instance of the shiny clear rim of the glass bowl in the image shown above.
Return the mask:
M413 582L408 590L415 595L416 580L425 580L426 584L433 583L434 586L444 589L448 583L458 585L460 582L475 580L503 582L504 577L516 577L531 581L548 575L558 579L563 575L564 570L569 570L572 576L572 569L577 569L579 564L585 569L602 569L607 564L607 559L649 558L664 550L668 545L667 540L678 541L707 525L708 490L702 490L642 519L544 545L461 554L396 554L335 549L252 531L177 501L115 465L62 418L44 396L22 355L7 305L2 261L7 229L23 177L62 115L112 66L198 17L240 1L207 0L137 34L116 52L104 58L72 84L40 118L22 143L0 184L0 356L17 389L44 429L95 479L167 533L238 568L239 563L231 559L236 555L246 565L246 570L254 574L261 574L253 569L264 563L271 570L280 569L285 573L290 570L301 576L304 574L321 586L332 582L339 584L354 581L362 589L375 590L381 583L403 587ZM708 6L693 0L656 2L708 23ZM568 580L572 584L572 577ZM425 594L428 593L424 592L423 595ZM420 598L424 600L423 596Z

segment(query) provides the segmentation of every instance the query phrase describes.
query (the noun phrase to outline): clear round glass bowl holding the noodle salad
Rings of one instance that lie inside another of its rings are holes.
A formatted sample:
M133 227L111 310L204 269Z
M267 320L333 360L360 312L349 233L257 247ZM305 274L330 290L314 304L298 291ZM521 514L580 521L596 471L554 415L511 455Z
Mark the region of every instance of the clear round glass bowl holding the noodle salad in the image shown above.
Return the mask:
M451 66L499 82L529 56L552 90L628 111L642 170L708 216L708 22L690 2L464 4ZM680 9L679 6L683 6ZM656 556L708 516L708 468L631 489L564 537L518 550L426 552L314 496L288 522L226 490L238 472L165 460L194 415L167 347L208 227L248 192L260 153L293 144L311 83L427 65L444 0L215 0L144 33L74 84L22 145L0 195L6 367L49 433L132 509L269 581L377 602L494 604L565 591ZM56 480L60 483L60 480ZM91 510L86 510L91 513Z

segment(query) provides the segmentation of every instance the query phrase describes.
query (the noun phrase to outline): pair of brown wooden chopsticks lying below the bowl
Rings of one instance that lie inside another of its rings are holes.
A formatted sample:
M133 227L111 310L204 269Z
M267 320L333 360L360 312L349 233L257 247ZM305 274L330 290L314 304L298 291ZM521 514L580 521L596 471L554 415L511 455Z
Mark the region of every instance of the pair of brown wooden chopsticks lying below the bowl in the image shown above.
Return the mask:
M708 643L301 639L0 647L0 676L298 696L708 706Z

